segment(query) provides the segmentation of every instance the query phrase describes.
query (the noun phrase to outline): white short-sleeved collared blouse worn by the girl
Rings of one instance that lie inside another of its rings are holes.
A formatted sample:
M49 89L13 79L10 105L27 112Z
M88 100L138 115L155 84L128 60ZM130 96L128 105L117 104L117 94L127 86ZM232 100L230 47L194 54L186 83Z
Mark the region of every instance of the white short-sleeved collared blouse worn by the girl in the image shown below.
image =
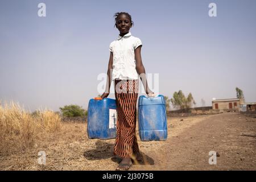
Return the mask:
M131 32L110 43L109 51L113 52L112 80L137 80L134 50L141 46L141 39L131 36Z

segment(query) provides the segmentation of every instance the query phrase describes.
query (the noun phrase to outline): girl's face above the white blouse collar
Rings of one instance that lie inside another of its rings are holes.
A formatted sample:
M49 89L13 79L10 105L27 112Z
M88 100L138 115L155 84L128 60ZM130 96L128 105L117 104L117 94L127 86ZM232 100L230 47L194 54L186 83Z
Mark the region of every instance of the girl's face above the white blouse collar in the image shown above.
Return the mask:
M115 27L117 27L120 34L123 35L129 32L132 25L133 23L131 23L129 17L126 14L119 15L117 18L117 23L115 23Z

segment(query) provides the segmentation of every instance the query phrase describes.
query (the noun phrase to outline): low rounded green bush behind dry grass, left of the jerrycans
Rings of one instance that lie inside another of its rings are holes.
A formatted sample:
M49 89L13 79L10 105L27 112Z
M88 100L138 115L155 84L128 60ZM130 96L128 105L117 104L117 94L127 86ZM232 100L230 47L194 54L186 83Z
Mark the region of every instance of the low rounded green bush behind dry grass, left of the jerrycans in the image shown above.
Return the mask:
M87 115L87 111L78 105L65 105L60 107L60 111L64 117L85 117Z

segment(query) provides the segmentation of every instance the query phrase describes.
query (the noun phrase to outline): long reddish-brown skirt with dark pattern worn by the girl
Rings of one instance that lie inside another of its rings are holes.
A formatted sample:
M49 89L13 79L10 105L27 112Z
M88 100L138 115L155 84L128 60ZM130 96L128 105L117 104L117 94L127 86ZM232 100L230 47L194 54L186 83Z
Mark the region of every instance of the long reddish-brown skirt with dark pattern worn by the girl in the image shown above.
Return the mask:
M115 80L114 86L117 104L117 135L114 155L131 158L133 152L139 152L135 133L139 80Z

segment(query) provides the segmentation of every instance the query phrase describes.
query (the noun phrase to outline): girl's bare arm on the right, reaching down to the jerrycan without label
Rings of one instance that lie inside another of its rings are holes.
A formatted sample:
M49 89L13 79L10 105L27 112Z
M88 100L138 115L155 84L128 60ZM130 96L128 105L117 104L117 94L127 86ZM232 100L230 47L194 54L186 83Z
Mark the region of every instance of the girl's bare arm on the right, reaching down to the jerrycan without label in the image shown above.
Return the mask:
M142 81L142 84L146 91L146 94L149 94L149 93L153 93L153 92L148 88L148 85L147 85L146 71L142 64L142 59L141 59L141 47L142 46L139 46L134 51L135 52L135 60L136 60L136 71L139 74L139 77L141 78L141 81Z

